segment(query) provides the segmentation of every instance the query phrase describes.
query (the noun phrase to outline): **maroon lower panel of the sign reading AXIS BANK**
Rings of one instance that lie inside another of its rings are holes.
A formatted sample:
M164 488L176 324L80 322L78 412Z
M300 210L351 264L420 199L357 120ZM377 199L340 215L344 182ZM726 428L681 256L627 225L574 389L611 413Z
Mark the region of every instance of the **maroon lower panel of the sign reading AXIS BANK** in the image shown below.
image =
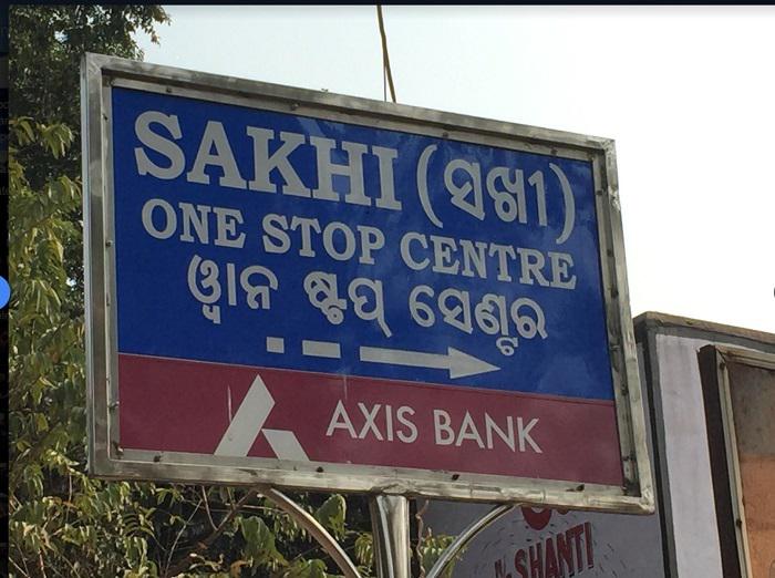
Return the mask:
M611 402L126 354L118 376L124 447L621 484Z

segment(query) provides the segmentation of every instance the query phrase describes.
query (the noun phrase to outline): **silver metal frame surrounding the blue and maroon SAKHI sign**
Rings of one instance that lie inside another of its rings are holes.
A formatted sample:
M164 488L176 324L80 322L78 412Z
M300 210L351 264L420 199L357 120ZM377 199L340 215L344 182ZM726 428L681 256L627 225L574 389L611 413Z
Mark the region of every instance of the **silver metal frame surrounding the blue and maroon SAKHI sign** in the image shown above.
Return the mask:
M117 310L113 223L113 86L400 130L592 165L606 327L622 486L385 466L124 450L118 444ZM86 54L82 62L84 258L90 472L105 478L271 484L579 509L651 513L652 474L629 307L616 154L607 138L230 76Z

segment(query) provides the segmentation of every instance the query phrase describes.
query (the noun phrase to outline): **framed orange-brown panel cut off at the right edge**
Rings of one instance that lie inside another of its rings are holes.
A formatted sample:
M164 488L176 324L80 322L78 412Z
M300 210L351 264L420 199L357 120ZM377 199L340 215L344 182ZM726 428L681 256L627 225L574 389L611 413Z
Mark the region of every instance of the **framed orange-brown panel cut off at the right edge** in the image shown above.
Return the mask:
M725 577L775 576L775 355L700 351Z

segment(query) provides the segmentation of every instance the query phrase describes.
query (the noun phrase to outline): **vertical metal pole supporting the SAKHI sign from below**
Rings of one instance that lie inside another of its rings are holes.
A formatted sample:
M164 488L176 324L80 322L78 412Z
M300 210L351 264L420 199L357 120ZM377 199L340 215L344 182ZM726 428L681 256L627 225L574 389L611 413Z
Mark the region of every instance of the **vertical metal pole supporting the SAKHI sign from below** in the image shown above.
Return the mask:
M376 495L369 498L376 578L410 578L409 499Z

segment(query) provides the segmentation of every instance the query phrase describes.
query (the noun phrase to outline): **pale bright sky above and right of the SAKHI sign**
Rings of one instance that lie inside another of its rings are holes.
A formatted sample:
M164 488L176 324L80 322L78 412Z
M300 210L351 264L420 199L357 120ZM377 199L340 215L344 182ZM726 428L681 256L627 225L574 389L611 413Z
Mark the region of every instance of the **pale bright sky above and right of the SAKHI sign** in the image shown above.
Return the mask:
M146 62L384 97L373 6L165 9ZM633 316L775 332L775 7L383 13L400 104L616 141Z

